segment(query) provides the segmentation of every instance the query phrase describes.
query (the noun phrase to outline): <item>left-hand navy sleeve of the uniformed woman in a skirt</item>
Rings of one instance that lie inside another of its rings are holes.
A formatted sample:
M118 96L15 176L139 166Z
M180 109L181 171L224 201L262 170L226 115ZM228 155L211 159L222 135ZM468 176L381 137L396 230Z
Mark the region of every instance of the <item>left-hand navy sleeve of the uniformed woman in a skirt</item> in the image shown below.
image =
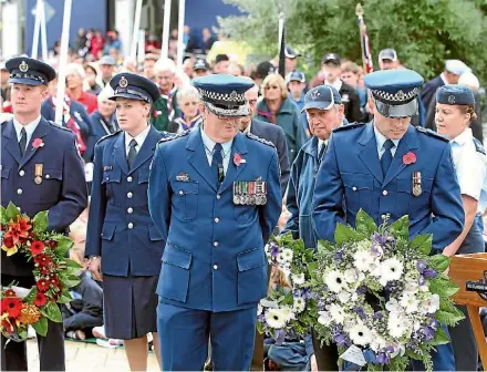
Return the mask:
M103 145L95 149L93 182L91 190L90 216L87 219L85 257L102 255L102 230L106 211L106 193L103 180Z

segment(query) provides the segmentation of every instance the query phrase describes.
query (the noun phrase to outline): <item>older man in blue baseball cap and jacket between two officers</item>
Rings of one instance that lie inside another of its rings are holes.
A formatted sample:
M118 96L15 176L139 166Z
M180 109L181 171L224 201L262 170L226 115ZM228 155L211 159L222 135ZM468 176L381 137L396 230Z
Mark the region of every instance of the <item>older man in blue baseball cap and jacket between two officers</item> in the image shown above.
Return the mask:
M317 248L317 232L312 220L314 180L323 159L331 132L342 124L344 106L340 93L330 85L311 89L304 96L304 106L312 137L301 147L291 167L288 186L288 223L283 234L291 231L307 248ZM309 341L309 339L305 339ZM334 344L320 347L313 337L314 356L319 371L336 368L338 350Z

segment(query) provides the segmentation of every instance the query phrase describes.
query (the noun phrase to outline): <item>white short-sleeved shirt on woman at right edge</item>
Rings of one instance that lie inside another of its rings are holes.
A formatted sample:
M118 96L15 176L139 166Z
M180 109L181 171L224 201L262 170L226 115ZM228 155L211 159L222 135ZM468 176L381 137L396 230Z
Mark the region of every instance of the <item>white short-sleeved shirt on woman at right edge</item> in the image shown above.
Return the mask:
M487 156L479 153L470 128L466 128L452 144L452 158L462 195L478 200L477 213L487 208Z

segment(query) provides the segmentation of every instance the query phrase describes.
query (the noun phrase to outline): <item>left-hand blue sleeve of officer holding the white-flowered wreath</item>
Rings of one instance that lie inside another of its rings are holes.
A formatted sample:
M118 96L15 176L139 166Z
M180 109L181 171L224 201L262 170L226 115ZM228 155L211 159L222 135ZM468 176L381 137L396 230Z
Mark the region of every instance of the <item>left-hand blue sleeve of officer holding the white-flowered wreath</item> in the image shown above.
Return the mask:
M334 241L334 230L343 220L344 188L338 167L335 141L331 136L314 185L313 223L318 239Z

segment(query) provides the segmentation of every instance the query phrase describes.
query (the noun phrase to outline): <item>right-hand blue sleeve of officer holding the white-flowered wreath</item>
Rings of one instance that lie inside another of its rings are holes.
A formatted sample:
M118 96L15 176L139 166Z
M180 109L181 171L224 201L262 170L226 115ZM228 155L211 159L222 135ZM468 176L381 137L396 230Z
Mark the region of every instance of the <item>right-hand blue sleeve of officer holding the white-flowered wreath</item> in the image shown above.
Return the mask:
M464 229L460 188L452 162L450 146L445 146L432 187L433 221L421 234L433 234L433 249L443 250Z

